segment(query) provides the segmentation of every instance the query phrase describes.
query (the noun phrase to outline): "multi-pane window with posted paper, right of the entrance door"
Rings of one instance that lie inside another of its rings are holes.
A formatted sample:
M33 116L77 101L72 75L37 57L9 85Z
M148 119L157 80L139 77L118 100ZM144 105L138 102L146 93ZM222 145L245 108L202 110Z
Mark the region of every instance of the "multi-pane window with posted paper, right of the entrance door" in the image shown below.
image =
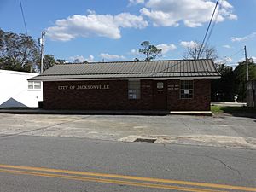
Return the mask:
M192 99L194 94L193 80L181 80L180 81L180 98Z

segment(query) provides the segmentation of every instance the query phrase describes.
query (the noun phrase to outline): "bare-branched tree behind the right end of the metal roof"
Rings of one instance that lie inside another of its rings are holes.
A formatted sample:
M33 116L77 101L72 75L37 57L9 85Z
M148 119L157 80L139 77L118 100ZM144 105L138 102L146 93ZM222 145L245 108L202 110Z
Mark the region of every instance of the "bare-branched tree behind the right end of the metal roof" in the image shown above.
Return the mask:
M184 53L184 59L212 59L218 58L217 49L211 45L203 46L201 49L201 43L195 41L194 44L187 46Z

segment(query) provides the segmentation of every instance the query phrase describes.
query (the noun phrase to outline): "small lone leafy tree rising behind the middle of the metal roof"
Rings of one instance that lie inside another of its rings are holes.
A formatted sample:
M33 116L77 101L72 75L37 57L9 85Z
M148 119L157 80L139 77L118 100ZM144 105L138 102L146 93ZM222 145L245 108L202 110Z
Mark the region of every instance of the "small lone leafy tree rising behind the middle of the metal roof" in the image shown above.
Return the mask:
M161 56L162 49L150 44L149 41L143 41L141 44L143 48L139 49L139 53L146 55L145 61L154 60L157 56Z

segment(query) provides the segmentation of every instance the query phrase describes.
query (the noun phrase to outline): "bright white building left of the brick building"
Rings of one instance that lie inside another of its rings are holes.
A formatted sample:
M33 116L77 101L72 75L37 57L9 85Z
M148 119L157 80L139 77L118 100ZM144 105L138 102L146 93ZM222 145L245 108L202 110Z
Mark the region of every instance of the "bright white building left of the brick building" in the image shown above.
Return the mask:
M43 101L42 83L27 81L37 75L0 70L0 108L38 108L38 102Z

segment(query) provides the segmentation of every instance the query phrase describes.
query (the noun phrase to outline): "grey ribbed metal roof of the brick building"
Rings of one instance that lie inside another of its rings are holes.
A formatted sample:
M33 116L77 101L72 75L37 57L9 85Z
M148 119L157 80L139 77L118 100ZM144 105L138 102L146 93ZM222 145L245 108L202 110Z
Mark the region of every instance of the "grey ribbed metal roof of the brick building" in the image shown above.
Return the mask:
M113 61L54 65L28 80L219 78L212 60Z

